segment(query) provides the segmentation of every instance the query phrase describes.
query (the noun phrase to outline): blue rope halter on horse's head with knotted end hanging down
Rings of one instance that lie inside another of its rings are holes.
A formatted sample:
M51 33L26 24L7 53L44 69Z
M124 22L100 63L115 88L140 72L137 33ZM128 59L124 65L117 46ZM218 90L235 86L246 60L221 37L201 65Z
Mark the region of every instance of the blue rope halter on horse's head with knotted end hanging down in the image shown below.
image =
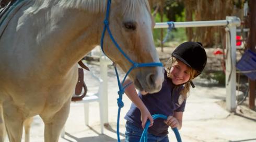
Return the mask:
M108 5L107 5L107 11L106 11L106 17L104 19L104 28L103 28L103 31L102 31L102 35L101 35L101 41L100 41L100 46L101 46L101 50L102 52L104 53L104 50L103 50L103 41L104 41L104 35L105 35L105 32L106 32L106 29L109 33L109 36L112 40L112 42L115 44L115 46L117 47L117 49L123 54L123 56L129 61L132 63L132 67L128 70L128 72L126 73L123 81L122 81L122 84L120 82L120 79L119 79L119 75L118 75L118 70L117 70L117 67L114 66L114 69L115 69L115 74L117 74L117 80L118 80L118 87L119 87L119 91L118 91L118 94L119 94L119 98L117 99L118 100L118 122L117 122L117 135L118 135L118 141L120 141L120 136L119 136L119 120L120 120L120 111L121 111L121 108L123 107L124 103L122 101L122 96L123 96L123 93L124 93L124 89L129 86L130 84L126 85L126 86L123 86L123 82L124 80L126 79L127 75L131 72L132 69L134 68L137 68L137 67L153 67L153 66L162 66L162 63L136 63L136 62L133 62L124 52L123 50L120 48L120 46L118 45L118 43L114 40L113 38L113 35L109 29L109 10L110 10L110 4L111 4L111 0L108 1ZM105 54L105 53L104 53ZM106 55L106 54L105 54Z

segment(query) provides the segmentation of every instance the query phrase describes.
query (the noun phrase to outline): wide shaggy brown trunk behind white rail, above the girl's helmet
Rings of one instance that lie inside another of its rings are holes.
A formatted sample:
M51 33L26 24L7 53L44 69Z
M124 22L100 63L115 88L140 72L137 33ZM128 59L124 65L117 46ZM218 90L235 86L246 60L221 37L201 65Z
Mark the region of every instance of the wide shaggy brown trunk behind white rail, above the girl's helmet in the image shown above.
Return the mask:
M232 13L232 0L186 0L184 2L186 9L186 20L191 20L193 11L195 21L205 20L224 20L226 16ZM193 8L194 6L194 8ZM188 11L187 11L188 9ZM204 46L220 45L225 35L225 27L198 27L195 28L194 35L188 29L188 39L201 41ZM191 37L192 35L192 37Z

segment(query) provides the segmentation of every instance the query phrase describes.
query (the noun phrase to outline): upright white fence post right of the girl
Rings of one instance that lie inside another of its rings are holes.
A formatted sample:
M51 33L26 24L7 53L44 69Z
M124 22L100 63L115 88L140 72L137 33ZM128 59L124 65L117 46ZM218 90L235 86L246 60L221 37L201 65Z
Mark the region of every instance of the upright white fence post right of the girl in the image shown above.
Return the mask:
M240 26L237 17L227 16L226 28L226 109L236 111L236 30Z

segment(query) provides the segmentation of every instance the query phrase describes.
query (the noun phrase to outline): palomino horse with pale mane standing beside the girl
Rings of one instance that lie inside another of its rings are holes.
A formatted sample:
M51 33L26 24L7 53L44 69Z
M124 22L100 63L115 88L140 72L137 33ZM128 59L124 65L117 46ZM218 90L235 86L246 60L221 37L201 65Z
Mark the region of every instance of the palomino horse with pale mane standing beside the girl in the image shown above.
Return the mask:
M77 62L100 44L106 0L24 0L0 27L0 140L20 141L39 115L44 141L56 142L69 114L78 78ZM2 17L3 20L3 17ZM136 63L160 62L153 41L154 20L147 0L113 0L109 29ZM132 66L104 36L104 53L124 72ZM162 67L139 67L129 77L139 90L157 92Z

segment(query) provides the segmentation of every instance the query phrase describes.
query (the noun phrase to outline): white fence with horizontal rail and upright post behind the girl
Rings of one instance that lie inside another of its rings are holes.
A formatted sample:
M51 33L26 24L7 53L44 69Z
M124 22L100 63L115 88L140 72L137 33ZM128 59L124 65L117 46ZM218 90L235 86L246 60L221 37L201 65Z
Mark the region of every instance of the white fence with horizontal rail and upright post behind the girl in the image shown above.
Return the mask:
M227 16L226 20L173 22L176 28L226 26L226 109L236 110L236 30L240 19ZM167 22L156 23L154 28L169 28Z

